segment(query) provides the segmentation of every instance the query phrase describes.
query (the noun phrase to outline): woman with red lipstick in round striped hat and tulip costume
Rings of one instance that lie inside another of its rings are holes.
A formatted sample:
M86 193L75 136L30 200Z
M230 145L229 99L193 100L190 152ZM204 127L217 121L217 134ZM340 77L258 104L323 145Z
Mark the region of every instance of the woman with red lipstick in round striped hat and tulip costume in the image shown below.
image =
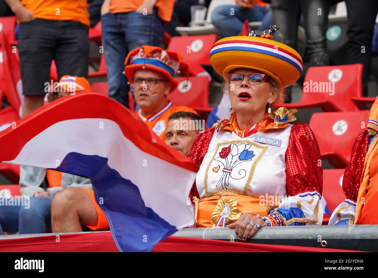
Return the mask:
M198 169L190 194L196 227L235 228L245 241L262 226L320 225L318 143L307 124L290 124L295 109L274 106L301 75L299 54L238 36L216 42L210 61L233 113L199 134L188 154Z

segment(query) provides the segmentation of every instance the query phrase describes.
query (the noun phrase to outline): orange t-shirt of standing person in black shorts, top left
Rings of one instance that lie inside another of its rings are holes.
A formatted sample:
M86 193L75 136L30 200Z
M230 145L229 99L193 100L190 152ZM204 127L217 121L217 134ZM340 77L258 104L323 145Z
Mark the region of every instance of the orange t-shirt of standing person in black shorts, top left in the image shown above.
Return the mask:
M90 27L87 0L21 0L34 17L46 20L71 20Z

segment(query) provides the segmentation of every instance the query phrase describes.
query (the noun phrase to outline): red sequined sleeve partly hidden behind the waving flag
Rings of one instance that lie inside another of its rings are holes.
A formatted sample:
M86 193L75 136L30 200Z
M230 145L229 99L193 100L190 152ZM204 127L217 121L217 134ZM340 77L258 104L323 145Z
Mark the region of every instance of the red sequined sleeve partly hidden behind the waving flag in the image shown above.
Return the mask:
M188 158L194 162L197 171L200 169L200 165L202 163L202 160L206 152L208 152L209 144L214 134L214 130L215 130L215 127L209 127L203 133L198 134L197 138L195 139L192 145L192 148L190 149L188 153ZM192 202L193 202L194 196L200 199L200 194L198 194L195 180L194 180L192 189L189 193L189 198L191 199Z

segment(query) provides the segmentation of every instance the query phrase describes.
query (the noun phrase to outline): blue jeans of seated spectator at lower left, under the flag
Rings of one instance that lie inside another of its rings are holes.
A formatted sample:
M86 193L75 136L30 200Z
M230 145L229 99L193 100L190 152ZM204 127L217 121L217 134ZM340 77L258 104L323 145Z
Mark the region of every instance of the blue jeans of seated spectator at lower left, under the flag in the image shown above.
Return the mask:
M53 197L33 197L29 208L21 205L0 205L0 234L19 231L19 234L46 233L51 230L51 201Z

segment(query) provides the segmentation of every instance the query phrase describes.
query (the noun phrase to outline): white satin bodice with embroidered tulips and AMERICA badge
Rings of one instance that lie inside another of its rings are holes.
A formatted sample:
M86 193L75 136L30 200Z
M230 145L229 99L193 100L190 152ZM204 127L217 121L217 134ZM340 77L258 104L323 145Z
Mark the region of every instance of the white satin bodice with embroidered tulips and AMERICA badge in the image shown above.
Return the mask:
M285 152L292 126L246 138L229 130L215 131L196 176L200 197L220 193L257 198L287 195Z

